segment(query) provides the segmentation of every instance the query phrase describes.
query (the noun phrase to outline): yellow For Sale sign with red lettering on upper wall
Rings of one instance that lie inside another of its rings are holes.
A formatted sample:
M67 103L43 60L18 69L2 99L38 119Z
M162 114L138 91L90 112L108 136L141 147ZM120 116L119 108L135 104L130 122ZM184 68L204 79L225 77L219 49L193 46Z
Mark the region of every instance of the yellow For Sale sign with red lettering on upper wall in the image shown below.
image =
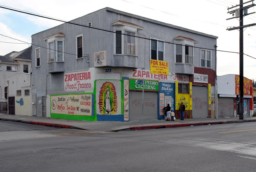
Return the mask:
M150 60L150 73L169 75L168 62L160 60Z

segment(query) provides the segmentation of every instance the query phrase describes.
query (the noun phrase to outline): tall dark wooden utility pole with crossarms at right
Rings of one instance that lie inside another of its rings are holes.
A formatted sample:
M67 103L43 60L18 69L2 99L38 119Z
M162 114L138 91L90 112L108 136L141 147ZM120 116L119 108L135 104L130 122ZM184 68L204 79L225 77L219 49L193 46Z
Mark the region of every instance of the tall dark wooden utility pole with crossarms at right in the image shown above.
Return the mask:
M253 13L247 13L247 9L250 7L254 7L255 4L253 4L254 0L250 0L248 2L243 3L243 0L240 0L240 4L234 7L228 8L228 13L232 14L235 17L228 18L233 19L233 18L239 18L239 27L234 27L234 28L229 28L227 29L228 31L230 30L236 30L239 29L239 96L240 96L240 101L239 101L239 107L240 107L240 112L239 112L239 119L243 120L243 28L250 27L250 26L255 26L256 23L254 24L248 24L243 26L243 17L246 15L250 15ZM244 4L248 4L249 2L252 2L252 4L243 7ZM235 7L238 7L239 9L233 9ZM229 11L230 9L233 9L232 11Z

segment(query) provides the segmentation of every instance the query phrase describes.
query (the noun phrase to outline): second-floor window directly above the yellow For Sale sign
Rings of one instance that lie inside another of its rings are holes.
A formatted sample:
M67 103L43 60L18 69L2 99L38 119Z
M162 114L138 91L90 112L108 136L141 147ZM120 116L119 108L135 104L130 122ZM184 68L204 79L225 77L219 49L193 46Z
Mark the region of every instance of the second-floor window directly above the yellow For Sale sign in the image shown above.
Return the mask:
M151 39L151 59L164 60L164 43L155 39Z

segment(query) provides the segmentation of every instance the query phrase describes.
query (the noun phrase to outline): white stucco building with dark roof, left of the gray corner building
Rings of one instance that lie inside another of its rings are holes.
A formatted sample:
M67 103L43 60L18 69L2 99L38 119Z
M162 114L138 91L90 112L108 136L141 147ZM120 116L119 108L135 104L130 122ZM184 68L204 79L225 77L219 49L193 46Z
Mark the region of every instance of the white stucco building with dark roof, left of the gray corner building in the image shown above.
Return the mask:
M0 113L31 116L31 49L0 56Z

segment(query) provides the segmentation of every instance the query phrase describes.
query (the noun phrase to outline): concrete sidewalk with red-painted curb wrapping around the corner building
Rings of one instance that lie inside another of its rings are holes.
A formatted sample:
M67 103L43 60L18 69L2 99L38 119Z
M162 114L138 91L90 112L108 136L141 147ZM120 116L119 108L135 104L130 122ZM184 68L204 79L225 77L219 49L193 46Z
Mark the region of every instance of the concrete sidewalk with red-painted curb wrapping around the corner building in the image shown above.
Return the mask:
M38 124L45 126L63 127L71 129L85 129L97 132L108 131L128 131L140 129L157 129L157 128L174 128L185 126L200 126L200 125L215 125L215 124L229 124L237 122L256 122L256 117L245 116L243 120L239 117L228 118L193 118L176 121L166 120L151 120L151 121L131 121L131 122L113 122L113 121L79 121L66 120L56 118L43 118L19 115L6 115L0 113L0 120L8 120L14 122L24 122L28 124Z

